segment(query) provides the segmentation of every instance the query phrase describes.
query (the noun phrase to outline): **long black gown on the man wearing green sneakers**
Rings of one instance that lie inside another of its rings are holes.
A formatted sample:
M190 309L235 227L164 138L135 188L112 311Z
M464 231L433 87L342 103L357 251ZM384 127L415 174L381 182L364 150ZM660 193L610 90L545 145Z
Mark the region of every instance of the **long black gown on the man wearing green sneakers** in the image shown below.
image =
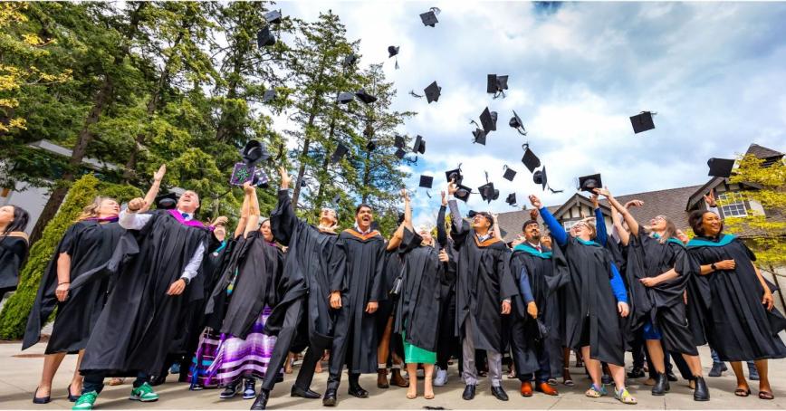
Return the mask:
M183 274L199 244L206 248L210 234L205 227L181 224L168 211L150 214L148 223L136 232L136 244L120 241L108 263L112 272L120 260L132 255L122 264L88 340L82 373L101 370L110 376L131 377L141 371L156 375L181 330L189 289L172 296L167 291ZM96 280L93 277L93 273L82 276L85 283ZM72 282L72 287L78 285Z

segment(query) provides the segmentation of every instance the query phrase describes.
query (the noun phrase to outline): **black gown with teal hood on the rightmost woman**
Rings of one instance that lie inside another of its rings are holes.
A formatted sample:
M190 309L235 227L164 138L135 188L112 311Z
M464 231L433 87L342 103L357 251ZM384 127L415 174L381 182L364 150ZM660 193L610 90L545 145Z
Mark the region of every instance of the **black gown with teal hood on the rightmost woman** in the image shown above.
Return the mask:
M764 289L753 269L756 255L751 249L730 234L696 237L687 248L700 265L736 263L733 270L696 276L700 279L688 295L688 306L695 305L691 327L704 327L706 339L722 361L786 357L786 346L778 336L786 322L780 311L767 311L762 305Z

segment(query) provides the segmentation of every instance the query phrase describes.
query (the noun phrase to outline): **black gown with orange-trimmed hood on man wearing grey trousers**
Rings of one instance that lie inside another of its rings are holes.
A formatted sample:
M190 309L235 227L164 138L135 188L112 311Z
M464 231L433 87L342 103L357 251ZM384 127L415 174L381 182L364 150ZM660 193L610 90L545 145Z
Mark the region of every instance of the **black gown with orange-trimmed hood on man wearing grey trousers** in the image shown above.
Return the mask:
M462 229L451 225L451 237L458 251L455 284L455 330L463 339L473 339L475 349L503 353L509 330L503 327L502 302L518 295L518 287L508 269L507 246L494 236L479 242L474 229L462 221ZM464 324L472 321L473 335Z

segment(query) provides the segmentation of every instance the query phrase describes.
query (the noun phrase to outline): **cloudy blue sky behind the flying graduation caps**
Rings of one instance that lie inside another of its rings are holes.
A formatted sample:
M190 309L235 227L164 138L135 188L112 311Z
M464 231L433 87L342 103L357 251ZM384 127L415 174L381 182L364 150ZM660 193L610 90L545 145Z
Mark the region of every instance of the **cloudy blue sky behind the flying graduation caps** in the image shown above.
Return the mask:
M786 4L523 2L283 2L284 14L312 20L331 9L360 39L361 63L388 61L400 46L395 108L417 116L402 132L427 140L411 167L435 177L433 196L415 193L416 220L433 221L444 170L462 163L465 184L481 186L484 171L500 189L491 205L473 195L464 210L512 211L535 193L547 205L576 192L575 178L599 172L612 192L630 194L703 184L706 160L731 158L752 142L786 149ZM442 10L435 28L418 14ZM504 99L485 92L486 74L508 74ZM408 95L431 81L442 87L427 104ZM485 147L471 143L488 106L499 112ZM527 137L507 126L516 110ZM656 129L634 135L629 116L657 112ZM277 121L277 126L279 122ZM282 127L285 125L282 124ZM543 192L523 167L522 143L541 158ZM503 165L518 175L502 178Z

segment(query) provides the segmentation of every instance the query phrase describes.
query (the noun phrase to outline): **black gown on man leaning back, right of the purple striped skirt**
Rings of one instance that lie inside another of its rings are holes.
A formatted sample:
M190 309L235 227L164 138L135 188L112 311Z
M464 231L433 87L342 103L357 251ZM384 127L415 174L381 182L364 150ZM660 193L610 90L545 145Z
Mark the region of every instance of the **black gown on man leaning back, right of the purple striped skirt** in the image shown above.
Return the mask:
M283 272L277 284L279 302L268 317L264 332L278 335L287 311L302 299L307 301L304 330L296 339L300 350L306 346L330 349L333 335L331 279L346 270L345 254L339 235L320 231L294 214L287 190L279 190L278 205L270 216L273 237L288 247ZM299 327L300 328L300 327ZM298 349L292 349L298 350Z

